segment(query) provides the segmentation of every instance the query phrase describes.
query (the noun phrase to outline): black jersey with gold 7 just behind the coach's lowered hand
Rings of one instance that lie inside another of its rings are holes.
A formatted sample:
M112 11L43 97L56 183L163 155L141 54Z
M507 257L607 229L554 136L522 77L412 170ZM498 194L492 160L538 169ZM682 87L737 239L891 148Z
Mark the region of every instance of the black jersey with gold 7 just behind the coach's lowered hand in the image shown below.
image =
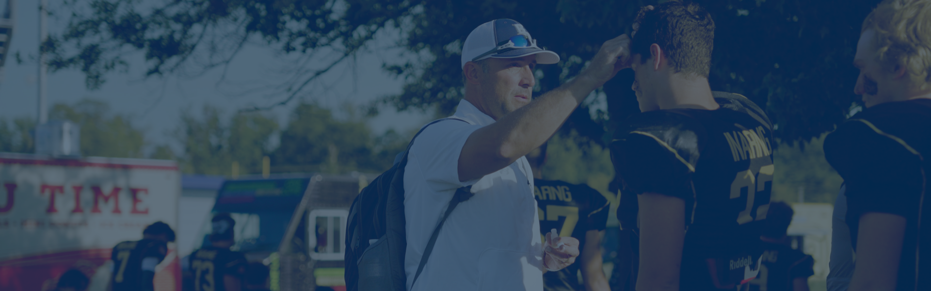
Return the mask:
M585 247L588 230L604 230L608 222L609 202L598 190L587 185L562 181L533 179L533 196L536 198L540 219L540 235L556 229L560 236L579 240L579 254ZM576 260L578 261L578 260ZM551 290L584 290L579 284L579 263L543 275L544 286Z

